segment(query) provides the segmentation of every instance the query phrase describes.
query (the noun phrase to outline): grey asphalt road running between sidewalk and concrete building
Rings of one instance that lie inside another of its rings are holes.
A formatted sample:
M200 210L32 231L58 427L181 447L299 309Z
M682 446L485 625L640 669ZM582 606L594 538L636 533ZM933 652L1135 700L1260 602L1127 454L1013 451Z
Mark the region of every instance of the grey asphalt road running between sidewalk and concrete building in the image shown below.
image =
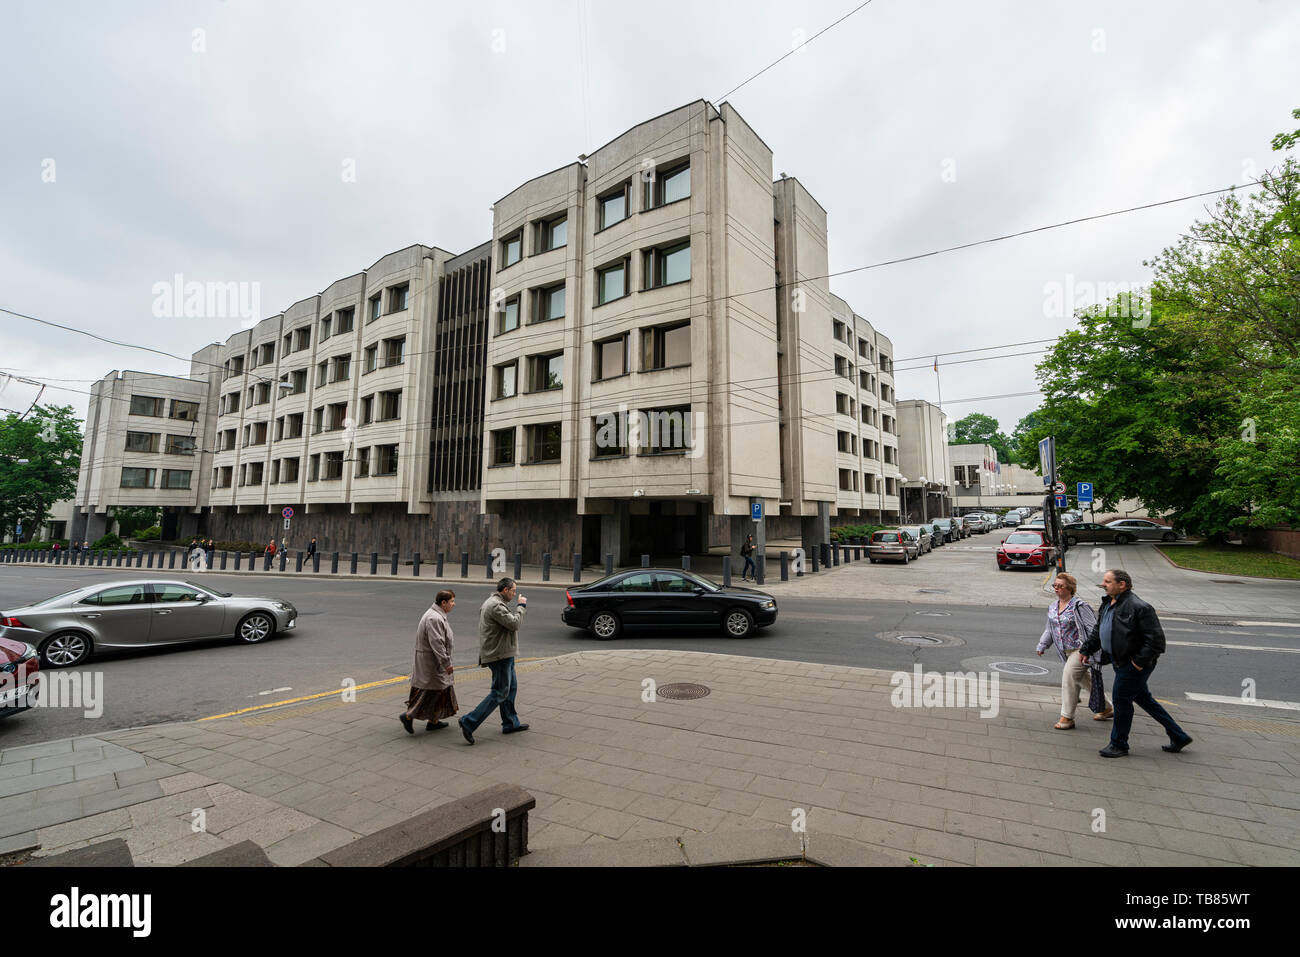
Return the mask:
M936 575L941 571L937 560L941 554L923 559L935 563ZM14 609L81 583L121 581L127 576L140 577L134 570L3 568L0 609ZM252 583L209 576L208 583L238 594L269 592L287 598L299 609L298 629L261 645L209 642L95 657L79 671L84 681L101 681L100 716L88 718L79 709L34 709L0 720L0 748L225 714L338 690L348 680L365 685L408 675L415 624L437 589L429 583L291 577ZM460 670L472 668L477 661L477 611L490 586L454 588L458 594L451 618L458 635L454 661ZM1002 680L1050 685L1058 685L1061 677L1054 651L1041 658L1034 653L1044 625L1044 611L1036 609L783 596L777 623L748 640L698 631L627 632L616 642L606 644L560 623L563 589L536 588L524 593L529 611L520 640L521 658L616 645L890 671L911 671L918 663L927 671L993 667L1002 672ZM1187 693L1192 692L1235 702L1247 680L1254 683L1254 696L1261 701L1300 701L1300 622L1294 628L1216 627L1175 618L1162 622L1170 648L1152 679L1152 689L1162 701L1186 703ZM905 644L898 635L919 636L922 644ZM936 638L937 644L927 638ZM473 707L476 702L468 698L476 697L482 687L476 684L473 693L464 696L465 710ZM526 701L525 681L520 690L525 713ZM1300 719L1300 710L1221 702L1210 706L1271 720Z

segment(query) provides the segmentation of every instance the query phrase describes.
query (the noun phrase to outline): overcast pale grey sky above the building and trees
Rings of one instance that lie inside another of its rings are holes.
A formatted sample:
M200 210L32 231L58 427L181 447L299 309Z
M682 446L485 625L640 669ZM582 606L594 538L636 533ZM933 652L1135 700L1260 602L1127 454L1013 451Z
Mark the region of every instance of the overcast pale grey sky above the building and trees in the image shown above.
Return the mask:
M411 243L462 252L525 179L718 103L855 5L8 5L0 307L188 356L240 321L159 319L155 283L260 283L264 317ZM1295 127L1297 39L1284 0L874 0L727 99L772 147L774 176L827 208L840 270L1248 181ZM924 367L898 373L900 397L936 400L936 352L1060 334L1048 283L1144 281L1143 260L1208 202L832 291L898 359L924 356L898 363ZM941 365L945 411L1010 432L1034 397L961 400L1034 389L1035 361ZM73 380L114 368L188 372L0 313L0 369L87 389ZM35 395L10 382L0 407ZM84 415L86 395L51 399Z

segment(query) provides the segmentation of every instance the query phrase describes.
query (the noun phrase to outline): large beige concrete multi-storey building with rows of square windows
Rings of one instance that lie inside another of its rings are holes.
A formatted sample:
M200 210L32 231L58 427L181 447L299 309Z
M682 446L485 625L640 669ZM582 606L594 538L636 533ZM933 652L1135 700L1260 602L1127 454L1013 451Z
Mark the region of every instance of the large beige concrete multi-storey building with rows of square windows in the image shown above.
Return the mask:
M516 186L473 250L105 376L70 534L157 505L164 537L280 541L292 506L291 547L563 564L896 521L893 346L828 272L827 211L697 100Z

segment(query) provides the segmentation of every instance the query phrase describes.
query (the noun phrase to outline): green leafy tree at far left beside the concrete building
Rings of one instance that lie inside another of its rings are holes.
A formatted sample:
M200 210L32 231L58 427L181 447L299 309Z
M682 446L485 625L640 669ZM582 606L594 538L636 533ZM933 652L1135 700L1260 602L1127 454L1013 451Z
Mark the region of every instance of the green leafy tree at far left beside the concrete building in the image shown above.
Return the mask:
M0 528L22 523L31 536L49 518L49 506L77 492L81 420L72 406L34 406L26 416L0 420Z

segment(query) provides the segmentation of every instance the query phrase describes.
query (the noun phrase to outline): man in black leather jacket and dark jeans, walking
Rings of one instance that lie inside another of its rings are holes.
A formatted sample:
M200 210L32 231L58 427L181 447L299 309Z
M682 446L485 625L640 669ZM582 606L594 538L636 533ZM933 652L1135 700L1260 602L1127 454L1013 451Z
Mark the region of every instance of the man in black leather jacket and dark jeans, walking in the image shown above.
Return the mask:
M1110 727L1110 744L1101 749L1104 758L1122 758L1128 754L1128 729L1134 723L1134 705L1141 707L1169 735L1162 750L1176 753L1192 742L1192 736L1178 727L1147 684L1156 661L1165 653L1165 631L1160 627L1156 609L1132 593L1132 577L1123 568L1110 568L1101 577L1102 598L1088 640L1079 648L1083 655L1101 650L1102 662L1115 668L1115 681L1110 687L1110 701L1115 709L1115 722Z

